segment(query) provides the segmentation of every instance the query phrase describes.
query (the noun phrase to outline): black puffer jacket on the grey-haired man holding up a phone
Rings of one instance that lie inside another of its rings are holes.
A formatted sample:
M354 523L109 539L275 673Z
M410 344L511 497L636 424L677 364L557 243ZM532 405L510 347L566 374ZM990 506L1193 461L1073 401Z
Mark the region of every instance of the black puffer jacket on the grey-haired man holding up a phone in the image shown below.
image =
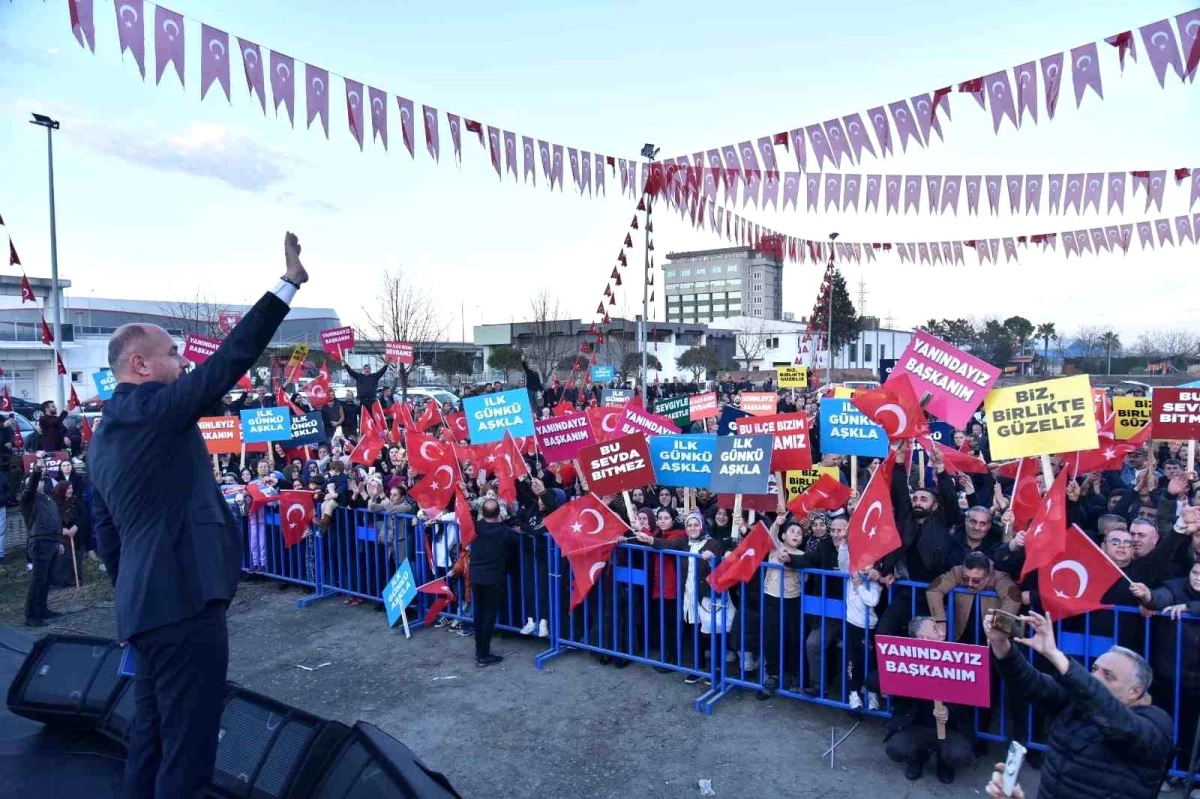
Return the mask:
M1171 717L1127 708L1076 661L1043 674L1015 650L996 659L1001 678L1054 719L1038 799L1153 799L1171 752Z

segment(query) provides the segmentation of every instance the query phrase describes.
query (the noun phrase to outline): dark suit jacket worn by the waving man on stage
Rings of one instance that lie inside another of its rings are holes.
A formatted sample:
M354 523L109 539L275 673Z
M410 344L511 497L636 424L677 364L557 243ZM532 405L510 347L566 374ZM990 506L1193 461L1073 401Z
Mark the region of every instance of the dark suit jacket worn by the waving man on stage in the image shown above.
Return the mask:
M96 536L116 587L119 641L228 602L241 572L241 527L212 476L196 420L263 353L288 305L265 294L217 352L170 384L120 383L88 451Z

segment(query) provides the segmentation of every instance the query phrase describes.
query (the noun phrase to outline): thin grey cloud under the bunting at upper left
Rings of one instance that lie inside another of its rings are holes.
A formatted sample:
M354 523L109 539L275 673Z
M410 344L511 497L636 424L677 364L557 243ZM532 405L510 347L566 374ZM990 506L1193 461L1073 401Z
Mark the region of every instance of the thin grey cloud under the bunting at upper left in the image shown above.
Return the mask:
M287 152L224 125L193 124L163 133L88 121L72 124L71 133L77 132L79 143L97 152L151 169L212 178L254 193L283 182L288 178L284 164L295 163Z

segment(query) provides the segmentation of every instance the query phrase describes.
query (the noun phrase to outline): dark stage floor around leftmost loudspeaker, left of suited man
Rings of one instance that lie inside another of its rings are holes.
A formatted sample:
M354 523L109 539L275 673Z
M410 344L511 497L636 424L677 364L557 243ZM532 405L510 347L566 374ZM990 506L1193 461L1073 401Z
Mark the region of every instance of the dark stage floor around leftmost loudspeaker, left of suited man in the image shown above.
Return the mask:
M8 684L35 637L0 625L0 686ZM0 799L120 799L125 749L96 733L46 729L0 708Z

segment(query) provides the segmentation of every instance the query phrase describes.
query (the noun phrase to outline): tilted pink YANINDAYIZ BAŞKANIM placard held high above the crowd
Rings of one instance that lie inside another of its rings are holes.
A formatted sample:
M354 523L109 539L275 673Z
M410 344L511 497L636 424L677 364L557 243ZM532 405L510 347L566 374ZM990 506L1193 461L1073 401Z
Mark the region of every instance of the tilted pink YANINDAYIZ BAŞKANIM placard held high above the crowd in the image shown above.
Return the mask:
M991 364L924 330L913 332L896 368L912 378L918 398L929 395L925 410L955 427L971 421L971 414L1000 378L1000 370Z

